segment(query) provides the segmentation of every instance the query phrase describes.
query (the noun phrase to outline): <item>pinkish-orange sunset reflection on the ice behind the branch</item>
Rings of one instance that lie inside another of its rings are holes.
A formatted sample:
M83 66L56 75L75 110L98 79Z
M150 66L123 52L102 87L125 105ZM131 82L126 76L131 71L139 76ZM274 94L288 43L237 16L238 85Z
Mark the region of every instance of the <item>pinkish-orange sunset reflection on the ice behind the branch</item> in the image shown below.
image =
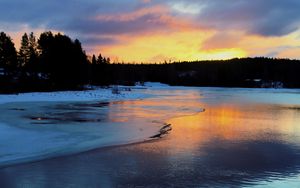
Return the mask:
M174 94L174 93L173 93ZM111 121L131 121L144 119L145 121L161 122L163 124L171 117L190 115L202 108L193 99L199 98L193 92L185 96L185 100L178 100L178 97L166 96L162 99L132 100L112 103L109 108L108 117ZM186 100L189 99L189 100Z

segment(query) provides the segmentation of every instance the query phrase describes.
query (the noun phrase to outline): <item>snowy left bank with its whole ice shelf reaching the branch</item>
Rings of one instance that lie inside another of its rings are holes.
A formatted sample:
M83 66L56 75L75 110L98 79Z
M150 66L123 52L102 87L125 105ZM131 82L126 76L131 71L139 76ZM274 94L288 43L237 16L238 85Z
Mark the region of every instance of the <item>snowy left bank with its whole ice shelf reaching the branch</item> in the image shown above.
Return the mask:
M146 141L168 118L201 111L176 101L144 102L166 87L0 95L0 166ZM178 93L159 97L172 95Z

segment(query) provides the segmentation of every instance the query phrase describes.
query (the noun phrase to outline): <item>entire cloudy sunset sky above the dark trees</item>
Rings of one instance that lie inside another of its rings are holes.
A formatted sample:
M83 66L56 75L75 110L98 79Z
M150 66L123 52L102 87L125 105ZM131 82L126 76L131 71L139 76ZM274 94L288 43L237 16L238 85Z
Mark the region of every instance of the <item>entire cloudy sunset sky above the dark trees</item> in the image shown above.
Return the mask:
M299 0L1 0L0 31L78 38L87 54L163 62L300 59Z

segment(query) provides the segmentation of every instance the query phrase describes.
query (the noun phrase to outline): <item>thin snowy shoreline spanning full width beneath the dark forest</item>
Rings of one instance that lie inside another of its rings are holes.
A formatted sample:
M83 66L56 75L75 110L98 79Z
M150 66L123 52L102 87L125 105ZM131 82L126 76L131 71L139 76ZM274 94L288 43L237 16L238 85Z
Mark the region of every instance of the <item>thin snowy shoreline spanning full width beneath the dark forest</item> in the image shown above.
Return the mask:
M118 100L138 100L151 97L150 94L145 92L139 92L144 89L176 89L176 88L197 88L202 91L221 91L227 90L230 92L244 91L256 92L268 92L270 94L298 94L300 89L265 89L265 88L222 88L222 87L185 87L185 86L169 86L166 84L146 82L144 86L119 86L120 94L113 94L112 88L94 88L90 90L81 91L51 91L51 92L30 92L30 93L18 93L18 94L0 94L0 104L11 102L88 102L88 101L118 101ZM132 90L132 91L128 91Z

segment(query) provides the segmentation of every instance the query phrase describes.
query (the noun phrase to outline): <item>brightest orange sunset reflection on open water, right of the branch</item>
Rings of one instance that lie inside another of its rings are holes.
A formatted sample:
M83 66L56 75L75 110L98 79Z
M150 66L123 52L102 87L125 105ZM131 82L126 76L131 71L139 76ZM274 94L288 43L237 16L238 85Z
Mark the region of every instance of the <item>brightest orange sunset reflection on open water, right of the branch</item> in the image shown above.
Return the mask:
M184 132L191 140L198 141L212 137L236 138L239 135L236 122L242 113L230 106L218 106L196 115L171 119L170 123L174 127L172 135L180 138Z

